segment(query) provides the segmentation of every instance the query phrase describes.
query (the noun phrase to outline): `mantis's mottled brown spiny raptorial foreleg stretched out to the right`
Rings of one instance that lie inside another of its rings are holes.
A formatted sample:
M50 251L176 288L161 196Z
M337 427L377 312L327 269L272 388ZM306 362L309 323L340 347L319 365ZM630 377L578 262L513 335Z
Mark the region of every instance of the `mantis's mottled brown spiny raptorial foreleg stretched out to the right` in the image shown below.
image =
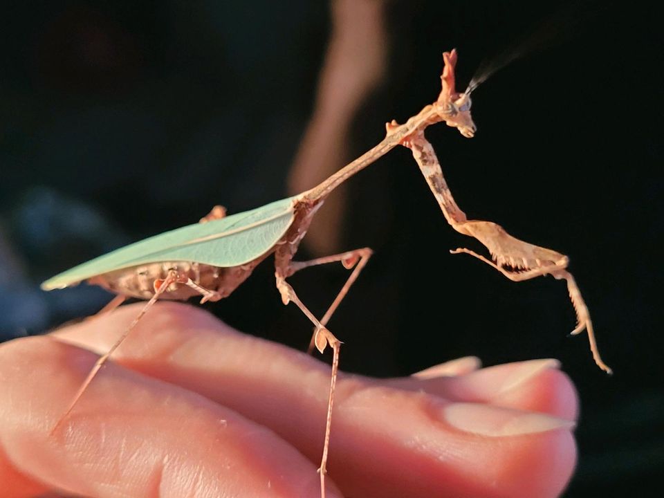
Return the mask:
M388 136L396 129L396 122L387 124ZM423 131L415 131L401 140L401 144L411 149L413 157L421 169L429 187L438 201L445 219L457 232L474 237L489 250L493 261L470 249L459 248L452 254L465 252L484 261L513 282L523 282L542 275L553 275L556 279L565 279L571 302L576 311L578 325L572 334L588 332L593 359L600 369L611 374L611 369L602 361L597 348L590 313L581 296L578 286L566 268L569 258L551 249L535 246L508 234L504 228L491 221L468 220L459 209L448 187L434 148L427 141Z

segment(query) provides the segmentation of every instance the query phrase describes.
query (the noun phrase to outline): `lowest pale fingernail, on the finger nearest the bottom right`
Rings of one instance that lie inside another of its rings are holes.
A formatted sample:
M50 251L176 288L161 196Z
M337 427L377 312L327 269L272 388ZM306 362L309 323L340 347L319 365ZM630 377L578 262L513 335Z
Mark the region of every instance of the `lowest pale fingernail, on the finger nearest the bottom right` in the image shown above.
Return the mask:
M442 410L443 418L452 427L481 436L521 436L575 426L564 418L480 403L452 403Z

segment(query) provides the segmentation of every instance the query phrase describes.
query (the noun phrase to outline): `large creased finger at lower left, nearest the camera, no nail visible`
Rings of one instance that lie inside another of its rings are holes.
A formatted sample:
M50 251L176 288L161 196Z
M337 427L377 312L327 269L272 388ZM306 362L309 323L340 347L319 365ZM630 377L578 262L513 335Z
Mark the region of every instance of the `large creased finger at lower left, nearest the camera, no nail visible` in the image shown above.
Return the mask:
M98 498L319 495L315 465L270 430L116 365L50 434L95 359L48 337L0 347L0 448L23 474Z

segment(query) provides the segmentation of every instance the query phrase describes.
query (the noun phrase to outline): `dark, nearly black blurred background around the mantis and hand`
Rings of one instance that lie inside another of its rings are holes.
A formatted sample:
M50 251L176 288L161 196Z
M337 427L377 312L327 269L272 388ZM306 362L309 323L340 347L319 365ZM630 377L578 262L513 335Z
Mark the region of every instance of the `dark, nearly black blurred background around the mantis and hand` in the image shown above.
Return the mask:
M376 253L330 328L345 342L342 368L374 376L465 355L560 358L582 405L564 496L661 496L661 18L654 3L561 5L385 3L385 67L344 155L436 98L443 50L458 48L463 90L482 59L539 33L543 48L473 94L475 138L443 125L427 136L469 218L569 255L615 375L593 364L586 335L566 337L575 317L564 283L515 284L449 255L482 249L445 223L406 149L344 194L340 249ZM546 19L553 28L537 28ZM214 204L233 213L286 196L331 31L322 0L3 2L0 339L110 299L89 286L44 293L46 277ZM346 276L333 265L292 282L321 314ZM311 326L281 304L268 262L207 307L248 333L308 343Z

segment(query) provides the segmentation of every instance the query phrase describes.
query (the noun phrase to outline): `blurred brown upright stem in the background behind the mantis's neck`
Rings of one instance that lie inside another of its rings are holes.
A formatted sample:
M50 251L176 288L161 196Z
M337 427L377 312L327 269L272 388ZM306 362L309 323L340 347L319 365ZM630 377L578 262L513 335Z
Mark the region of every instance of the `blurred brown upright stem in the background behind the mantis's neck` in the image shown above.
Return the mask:
M290 194L310 189L347 162L352 120L385 72L384 8L380 0L331 2L333 32L313 115L288 175ZM346 199L341 185L317 213L303 241L313 255L340 250Z

